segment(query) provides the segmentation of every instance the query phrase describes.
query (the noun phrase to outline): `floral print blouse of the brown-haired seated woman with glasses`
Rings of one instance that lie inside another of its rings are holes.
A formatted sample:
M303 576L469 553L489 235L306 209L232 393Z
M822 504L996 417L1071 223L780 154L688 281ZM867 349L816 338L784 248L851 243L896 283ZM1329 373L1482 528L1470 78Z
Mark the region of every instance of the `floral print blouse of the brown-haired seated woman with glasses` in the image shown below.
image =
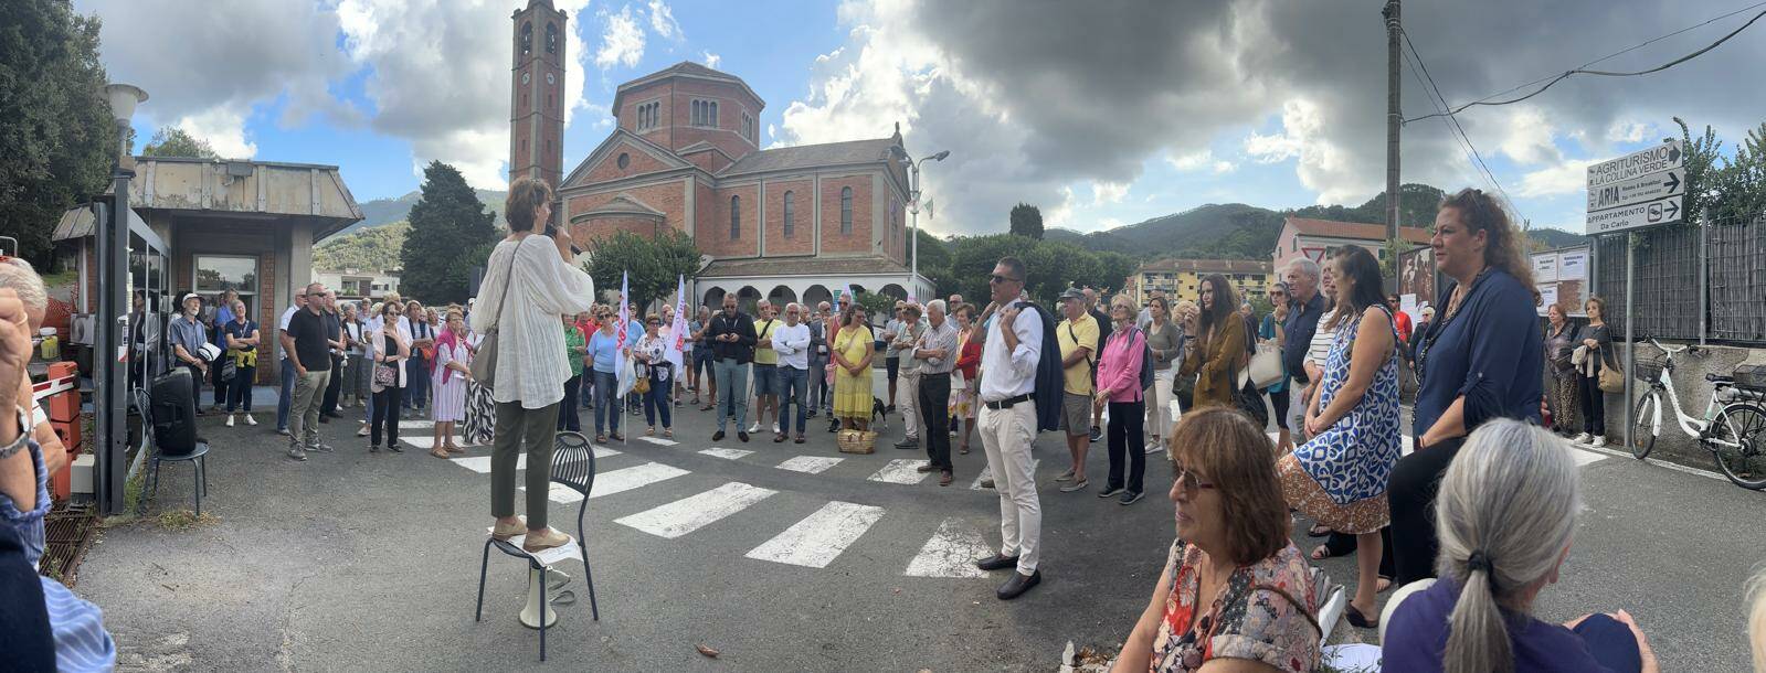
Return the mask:
M1197 613L1201 599L1196 595L1201 562L1203 551L1194 544L1171 544L1166 562L1171 592L1153 638L1150 673L1196 671L1222 657L1261 661L1294 673L1319 662L1314 625L1319 606L1305 556L1293 542L1270 558L1234 569L1204 613Z

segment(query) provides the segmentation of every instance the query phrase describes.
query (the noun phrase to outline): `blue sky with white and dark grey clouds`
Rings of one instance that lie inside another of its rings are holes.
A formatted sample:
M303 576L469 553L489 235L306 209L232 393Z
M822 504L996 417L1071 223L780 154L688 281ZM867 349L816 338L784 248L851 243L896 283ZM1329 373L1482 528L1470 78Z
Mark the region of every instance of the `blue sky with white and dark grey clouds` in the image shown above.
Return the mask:
M507 185L510 14L526 2L74 7L102 19L111 81L150 95L138 143L175 125L224 157L336 164L367 201L417 189L436 159L475 187ZM692 60L759 94L763 147L887 138L901 124L913 155L950 150L922 171L932 216L920 224L940 235L1005 231L1015 203L1040 207L1047 226L1097 231L1206 203L1353 207L1385 187L1381 0L555 5L570 16L567 173L611 132L620 83ZM1413 2L1404 28L1422 65L1400 71L1402 113L1436 111L1436 88L1460 104L1641 42L1593 67L1655 67L1761 11L1754 0ZM1457 124L1489 175L1445 118L1411 120L1402 180L1496 191L1533 226L1579 231L1589 163L1678 136L1674 117L1695 134L1715 127L1727 147L1766 120L1766 88L1738 79L1762 62L1766 19L1665 72L1577 76L1471 108Z

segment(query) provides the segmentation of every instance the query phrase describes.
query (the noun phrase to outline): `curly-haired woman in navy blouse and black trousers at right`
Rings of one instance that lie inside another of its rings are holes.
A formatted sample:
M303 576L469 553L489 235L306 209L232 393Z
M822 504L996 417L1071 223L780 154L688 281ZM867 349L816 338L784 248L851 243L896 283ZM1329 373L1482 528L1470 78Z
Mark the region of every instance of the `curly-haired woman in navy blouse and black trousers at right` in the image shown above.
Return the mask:
M1416 452L1386 482L1397 585L1436 574L1436 486L1466 435L1494 419L1540 422L1545 353L1533 265L1503 205L1478 189L1441 201L1429 246L1453 286L1416 344Z

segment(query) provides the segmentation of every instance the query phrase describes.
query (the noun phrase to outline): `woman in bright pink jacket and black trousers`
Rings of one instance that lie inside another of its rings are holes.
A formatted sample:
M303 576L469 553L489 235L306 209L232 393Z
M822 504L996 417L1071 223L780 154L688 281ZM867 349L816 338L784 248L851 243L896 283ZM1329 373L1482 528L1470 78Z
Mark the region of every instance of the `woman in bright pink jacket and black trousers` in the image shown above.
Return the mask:
M1123 505L1141 500L1141 477L1146 473L1146 397L1141 389L1141 360L1146 353L1146 334L1134 325L1139 311L1128 295L1109 302L1109 320L1114 325L1104 353L1098 359L1097 396L1093 405L1109 405L1109 482L1098 498L1121 498ZM1123 454L1128 459L1128 480L1121 479Z

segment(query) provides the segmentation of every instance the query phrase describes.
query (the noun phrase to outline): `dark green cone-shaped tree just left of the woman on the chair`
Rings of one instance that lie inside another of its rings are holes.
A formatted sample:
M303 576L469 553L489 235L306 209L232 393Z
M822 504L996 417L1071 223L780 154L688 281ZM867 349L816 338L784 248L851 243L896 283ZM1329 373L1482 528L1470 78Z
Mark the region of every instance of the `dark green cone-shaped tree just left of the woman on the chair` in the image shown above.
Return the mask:
M484 265L496 228L491 212L454 166L424 168L422 196L411 205L411 230L399 246L399 290L427 304L464 302L472 268Z

